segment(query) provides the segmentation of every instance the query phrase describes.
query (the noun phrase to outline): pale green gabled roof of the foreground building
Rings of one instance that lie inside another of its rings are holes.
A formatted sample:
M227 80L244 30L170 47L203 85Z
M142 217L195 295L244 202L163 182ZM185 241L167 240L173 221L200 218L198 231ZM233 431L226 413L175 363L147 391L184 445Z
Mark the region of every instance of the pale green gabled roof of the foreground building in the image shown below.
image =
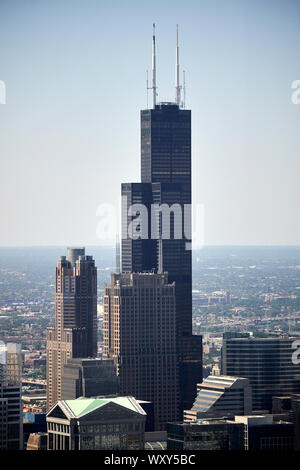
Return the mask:
M71 410L76 418L89 413L90 411L106 405L107 403L116 403L117 405L123 406L129 410L141 413L137 404L131 397L117 397L117 398L85 398L80 397L76 400L64 400L64 403Z

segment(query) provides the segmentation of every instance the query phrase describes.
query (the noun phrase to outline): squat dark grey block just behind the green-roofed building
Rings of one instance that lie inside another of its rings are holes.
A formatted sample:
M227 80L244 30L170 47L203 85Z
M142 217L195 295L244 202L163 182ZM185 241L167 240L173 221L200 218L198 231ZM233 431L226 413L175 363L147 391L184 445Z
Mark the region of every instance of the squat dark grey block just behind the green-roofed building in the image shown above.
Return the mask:
M68 359L62 376L62 400L119 395L113 359Z

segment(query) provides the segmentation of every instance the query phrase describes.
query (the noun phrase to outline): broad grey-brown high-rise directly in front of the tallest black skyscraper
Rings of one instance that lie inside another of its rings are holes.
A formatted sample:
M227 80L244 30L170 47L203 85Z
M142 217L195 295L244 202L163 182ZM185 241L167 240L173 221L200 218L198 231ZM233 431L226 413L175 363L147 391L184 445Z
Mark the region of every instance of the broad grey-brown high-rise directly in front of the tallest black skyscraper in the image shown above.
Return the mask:
M103 357L115 360L121 395L153 402L155 430L178 419L175 300L166 274L112 274L104 292Z

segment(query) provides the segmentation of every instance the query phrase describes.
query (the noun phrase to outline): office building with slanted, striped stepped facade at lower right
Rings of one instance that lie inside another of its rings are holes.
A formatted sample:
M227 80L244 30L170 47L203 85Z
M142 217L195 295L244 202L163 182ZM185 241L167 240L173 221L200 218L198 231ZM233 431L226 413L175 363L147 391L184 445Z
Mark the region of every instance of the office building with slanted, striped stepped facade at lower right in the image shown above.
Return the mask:
M252 393L248 379L210 375L198 384L195 403L191 410L185 410L184 421L251 412Z

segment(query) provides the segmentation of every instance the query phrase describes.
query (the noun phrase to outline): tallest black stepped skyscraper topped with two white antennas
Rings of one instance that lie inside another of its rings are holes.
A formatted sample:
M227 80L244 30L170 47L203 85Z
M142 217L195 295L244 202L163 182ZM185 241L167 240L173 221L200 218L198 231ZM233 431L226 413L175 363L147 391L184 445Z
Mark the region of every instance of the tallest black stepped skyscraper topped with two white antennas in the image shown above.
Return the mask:
M175 282L182 414L202 381L202 338L192 335L191 111L180 100L178 41L176 60L175 103L156 104L153 34L153 108L141 111L141 183L122 184L122 272L167 272Z

